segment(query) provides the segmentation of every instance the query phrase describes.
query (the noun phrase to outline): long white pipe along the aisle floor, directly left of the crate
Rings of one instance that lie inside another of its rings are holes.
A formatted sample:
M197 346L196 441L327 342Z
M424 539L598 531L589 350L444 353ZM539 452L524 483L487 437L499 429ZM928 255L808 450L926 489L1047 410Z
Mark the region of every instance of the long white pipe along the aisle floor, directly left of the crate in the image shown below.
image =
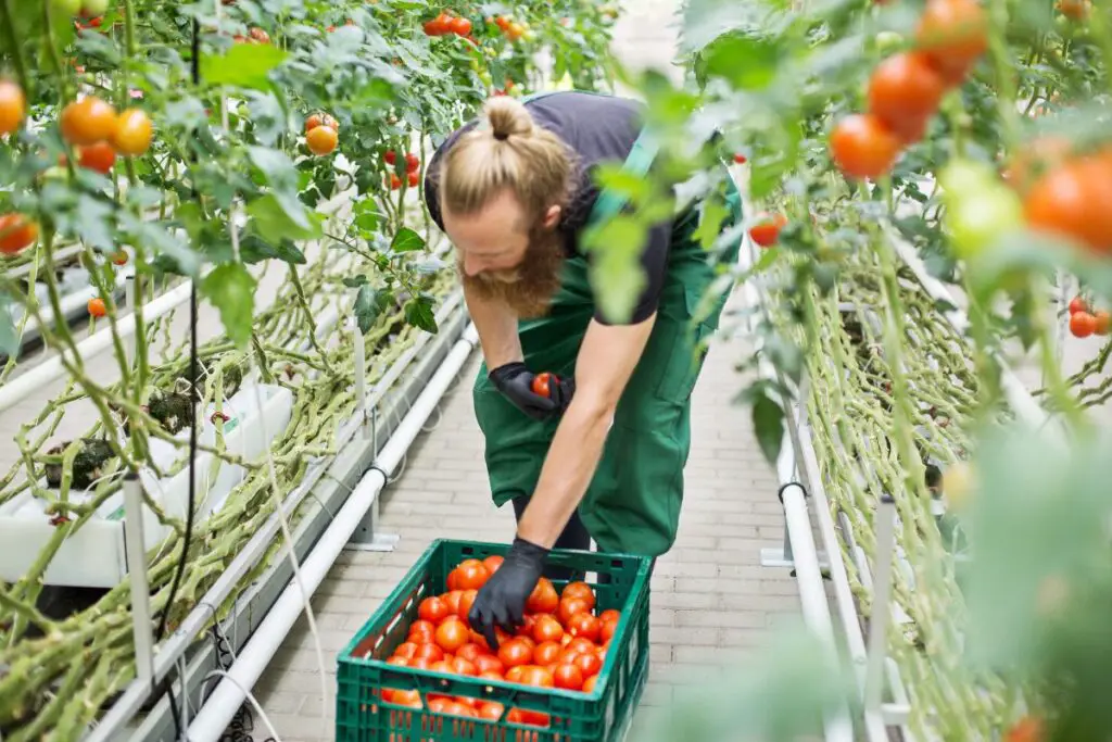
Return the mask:
M294 582L287 585L250 641L239 652L225 680L217 685L201 706L200 713L189 725L187 733L189 742L218 740L224 734L247 698L248 691L258 682L275 652L301 615L305 602L316 592L325 575L331 570L336 557L386 485L387 477L400 463L425 422L433 414L433 409L470 356L475 346L469 337L465 334L456 342L397 431L383 447L375 467L356 485L344 507L332 518L331 525L320 536L308 558L301 563L301 585Z

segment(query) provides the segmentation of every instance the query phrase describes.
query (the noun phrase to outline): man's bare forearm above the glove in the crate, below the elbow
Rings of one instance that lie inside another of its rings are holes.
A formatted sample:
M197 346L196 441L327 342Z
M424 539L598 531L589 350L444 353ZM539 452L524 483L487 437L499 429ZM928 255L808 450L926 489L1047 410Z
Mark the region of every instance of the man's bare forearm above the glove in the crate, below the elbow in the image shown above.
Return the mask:
M598 468L613 408L573 400L556 428L540 479L517 526L525 541L552 548Z

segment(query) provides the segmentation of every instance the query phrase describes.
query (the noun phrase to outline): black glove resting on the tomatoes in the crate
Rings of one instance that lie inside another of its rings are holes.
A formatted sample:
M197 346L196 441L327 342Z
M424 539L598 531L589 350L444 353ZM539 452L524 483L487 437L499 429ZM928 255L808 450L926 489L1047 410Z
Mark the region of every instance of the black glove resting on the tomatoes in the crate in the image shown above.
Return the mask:
M540 580L548 550L522 538L506 554L502 566L479 590L467 614L471 629L483 634L493 652L498 651L495 626L514 633L525 617L525 602Z

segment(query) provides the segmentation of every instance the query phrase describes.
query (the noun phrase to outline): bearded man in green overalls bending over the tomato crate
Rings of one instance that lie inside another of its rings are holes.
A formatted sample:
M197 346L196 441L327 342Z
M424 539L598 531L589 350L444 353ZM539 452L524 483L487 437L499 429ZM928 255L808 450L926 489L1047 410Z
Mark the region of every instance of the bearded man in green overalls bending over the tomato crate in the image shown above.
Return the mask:
M586 550L593 537L602 551L655 558L675 541L702 367L696 344L717 327L725 301L691 332L715 277L693 236L698 212L653 226L644 283L622 321L599 309L608 289L588 280L595 257L579 244L622 207L593 184L593 168L648 170L641 112L635 101L590 92L493 98L428 168L426 201L458 251L483 347L474 397L490 489L517 516L506 561L468 616L492 647L496 625L522 621L543 572L566 578L545 571L549 550ZM723 228L741 221L732 181L727 204ZM724 257L736 259L739 244ZM559 379L547 395L534 387L542 372Z

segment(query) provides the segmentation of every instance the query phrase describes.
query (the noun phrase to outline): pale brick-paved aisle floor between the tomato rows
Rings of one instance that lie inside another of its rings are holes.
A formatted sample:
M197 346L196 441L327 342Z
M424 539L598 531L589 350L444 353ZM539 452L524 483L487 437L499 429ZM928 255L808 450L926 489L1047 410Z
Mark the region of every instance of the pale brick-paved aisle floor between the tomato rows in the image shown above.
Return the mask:
M658 63L662 48L675 43L676 4L653 0L627 10L615 30L619 58L634 67ZM724 318L724 329L731 324ZM652 583L652 667L643 713L664 706L676 684L692 676L706 682L716 669L735 666L735 656L757 645L767 627L798 613L794 580L759 565L761 547L782 540L784 516L748 410L731 404L742 385L733 364L743 354L736 340L716 343L694 393L679 537ZM400 536L396 551L346 552L312 601L328 672L329 736L321 738L319 670L304 616L256 686L284 742L331 739L337 653L434 538L512 538L513 513L490 502L471 409L478 362L476 352L446 396L443 415L434 416L434 429L417 441L404 473L384 494L381 528ZM258 721L254 733L266 736Z

